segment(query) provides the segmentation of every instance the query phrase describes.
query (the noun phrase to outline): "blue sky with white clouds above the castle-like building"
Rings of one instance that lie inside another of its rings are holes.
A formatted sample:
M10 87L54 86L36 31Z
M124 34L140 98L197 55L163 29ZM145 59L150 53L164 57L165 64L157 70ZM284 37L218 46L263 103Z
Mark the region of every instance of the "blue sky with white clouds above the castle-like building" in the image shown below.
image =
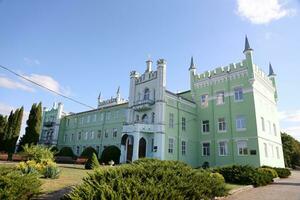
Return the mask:
M300 139L299 12L298 0L0 0L0 64L96 107L100 91L127 97L148 56L167 60L168 89L189 89L191 56L199 72L238 62L247 34L277 74L282 129ZM87 109L0 70L1 114L39 101Z

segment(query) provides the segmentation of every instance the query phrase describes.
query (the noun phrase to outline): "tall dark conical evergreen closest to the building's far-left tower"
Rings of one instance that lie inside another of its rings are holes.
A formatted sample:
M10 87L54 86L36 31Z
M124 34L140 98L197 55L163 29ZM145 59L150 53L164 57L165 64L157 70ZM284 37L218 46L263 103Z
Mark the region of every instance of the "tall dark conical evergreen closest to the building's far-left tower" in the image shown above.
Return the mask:
M27 127L25 134L19 143L19 151L21 151L25 144L37 144L42 128L42 103L38 105L34 103L31 106L28 120L26 121Z

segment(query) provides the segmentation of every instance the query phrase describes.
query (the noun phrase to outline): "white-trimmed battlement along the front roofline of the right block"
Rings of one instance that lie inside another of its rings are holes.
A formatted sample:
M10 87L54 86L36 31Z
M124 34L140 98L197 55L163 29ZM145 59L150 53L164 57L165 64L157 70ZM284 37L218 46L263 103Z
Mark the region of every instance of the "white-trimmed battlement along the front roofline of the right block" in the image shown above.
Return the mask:
M215 68L213 70L208 70L201 74L196 74L194 76L194 78L195 78L195 80L199 81L199 80L204 80L207 78L214 78L214 77L222 76L227 73L240 71L242 69L246 69L245 60L243 60L242 62L239 62L239 63L231 63L227 66L222 66L222 67Z

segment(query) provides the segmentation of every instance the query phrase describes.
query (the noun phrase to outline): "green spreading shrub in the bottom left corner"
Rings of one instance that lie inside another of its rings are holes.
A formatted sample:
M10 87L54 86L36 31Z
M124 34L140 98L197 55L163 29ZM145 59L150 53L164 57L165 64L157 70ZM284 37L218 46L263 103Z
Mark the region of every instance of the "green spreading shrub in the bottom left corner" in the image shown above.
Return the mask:
M40 193L41 181L36 174L22 174L0 167L0 199L26 200Z

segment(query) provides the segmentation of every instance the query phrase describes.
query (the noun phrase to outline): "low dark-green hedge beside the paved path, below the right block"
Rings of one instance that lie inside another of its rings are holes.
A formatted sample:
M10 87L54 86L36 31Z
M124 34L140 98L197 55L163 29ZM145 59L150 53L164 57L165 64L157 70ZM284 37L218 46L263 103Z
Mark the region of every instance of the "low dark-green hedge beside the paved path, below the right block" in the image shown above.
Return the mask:
M232 165L225 167L218 167L213 169L223 175L226 182L254 185L255 187L267 185L273 181L273 172L263 168L254 168L249 165Z

